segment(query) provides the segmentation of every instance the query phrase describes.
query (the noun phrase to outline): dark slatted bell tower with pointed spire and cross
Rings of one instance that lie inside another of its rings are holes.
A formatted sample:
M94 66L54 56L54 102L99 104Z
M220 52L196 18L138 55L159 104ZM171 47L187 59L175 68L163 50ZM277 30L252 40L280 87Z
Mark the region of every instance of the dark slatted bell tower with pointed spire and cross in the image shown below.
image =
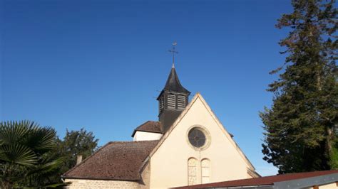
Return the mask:
M173 43L173 67L170 70L165 87L158 95L158 119L163 126L163 131L167 131L173 122L180 116L185 107L188 105L190 92L180 84L178 75L175 70L174 55L176 43Z

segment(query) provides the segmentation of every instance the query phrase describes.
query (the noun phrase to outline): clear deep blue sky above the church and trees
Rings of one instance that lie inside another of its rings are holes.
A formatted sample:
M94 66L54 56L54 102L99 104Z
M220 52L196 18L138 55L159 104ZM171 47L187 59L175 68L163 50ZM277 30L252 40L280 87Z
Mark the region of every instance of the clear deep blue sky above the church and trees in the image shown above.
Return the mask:
M99 144L131 140L157 120L171 68L200 92L262 175L269 71L284 63L275 28L290 1L1 1L0 121L30 119L93 131Z

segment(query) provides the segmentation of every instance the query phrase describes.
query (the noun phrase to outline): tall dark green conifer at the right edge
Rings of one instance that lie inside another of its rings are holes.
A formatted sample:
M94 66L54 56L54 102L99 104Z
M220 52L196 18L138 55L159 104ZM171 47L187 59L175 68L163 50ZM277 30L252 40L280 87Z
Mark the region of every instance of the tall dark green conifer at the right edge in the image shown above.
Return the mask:
M271 109L260 112L264 160L280 173L338 168L337 9L334 1L293 0L277 28L288 28L282 72L269 85Z

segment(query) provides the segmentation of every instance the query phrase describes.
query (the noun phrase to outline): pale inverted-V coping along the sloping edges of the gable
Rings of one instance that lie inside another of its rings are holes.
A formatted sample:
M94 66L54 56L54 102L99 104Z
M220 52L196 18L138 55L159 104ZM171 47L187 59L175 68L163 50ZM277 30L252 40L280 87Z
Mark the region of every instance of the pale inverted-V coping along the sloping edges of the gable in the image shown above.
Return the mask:
M180 123L180 121L183 119L183 117L185 117L185 114L187 114L189 112L190 108L193 107L193 104L196 102L197 99L200 99L200 101L203 103L204 107L208 110L209 114L212 116L212 119L215 120L215 122L217 123L217 126L219 126L220 130L223 132L223 134L225 134L225 136L230 141L230 143L232 144L232 146L234 146L235 149L237 150L237 152L240 153L240 156L247 163L247 166L249 166L249 168L252 171L254 171L255 167L252 166L252 163L249 161L249 159L247 158L247 156L245 156L245 154L242 152L242 150L240 149L240 147L236 144L236 142L232 139L232 137L226 131L226 129L224 128L224 126L220 123L220 120L217 119L216 115L214 114L214 112L212 112L212 110L210 109L208 103L205 102L205 99L203 99L202 95L200 95L199 92L193 97L193 99L188 104L188 106L185 107L185 109L180 114L180 116L175 120L175 122L172 124L172 126L170 126L170 128L168 129L168 131L162 136L162 138L160 139L160 141L158 142L158 144L155 146L155 148L153 148L153 151L150 152L149 158L151 158L153 156L153 154L156 153L156 151L158 150L158 148L160 148L160 146L163 144L163 142L165 141L165 139L168 138L168 136L173 131L173 129L175 129L175 127L178 125L178 123Z

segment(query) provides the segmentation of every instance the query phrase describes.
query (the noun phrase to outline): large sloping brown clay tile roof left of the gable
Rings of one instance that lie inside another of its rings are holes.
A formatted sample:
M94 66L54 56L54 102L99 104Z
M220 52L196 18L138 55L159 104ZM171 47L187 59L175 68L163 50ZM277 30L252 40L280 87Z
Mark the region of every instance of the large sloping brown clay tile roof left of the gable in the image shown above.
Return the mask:
M158 141L109 142L62 178L139 180L140 169Z

